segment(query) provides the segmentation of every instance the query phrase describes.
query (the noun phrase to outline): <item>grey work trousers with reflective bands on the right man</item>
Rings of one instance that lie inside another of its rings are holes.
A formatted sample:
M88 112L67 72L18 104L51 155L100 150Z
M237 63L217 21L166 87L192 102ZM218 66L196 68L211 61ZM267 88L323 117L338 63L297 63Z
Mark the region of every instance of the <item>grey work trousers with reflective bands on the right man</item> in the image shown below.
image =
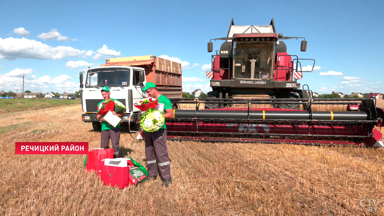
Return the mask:
M148 175L157 176L157 166L159 166L161 178L163 180L170 178L170 165L166 139L167 130L144 133Z

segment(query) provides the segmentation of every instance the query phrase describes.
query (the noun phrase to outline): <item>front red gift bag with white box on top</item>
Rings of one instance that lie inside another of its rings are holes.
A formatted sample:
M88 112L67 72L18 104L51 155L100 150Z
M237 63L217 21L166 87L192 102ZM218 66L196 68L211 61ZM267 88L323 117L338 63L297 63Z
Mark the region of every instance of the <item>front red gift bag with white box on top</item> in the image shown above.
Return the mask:
M133 167L131 160L127 158L116 158L103 160L101 165L100 177L104 185L117 186L118 188L126 188L132 185L129 178L129 168Z

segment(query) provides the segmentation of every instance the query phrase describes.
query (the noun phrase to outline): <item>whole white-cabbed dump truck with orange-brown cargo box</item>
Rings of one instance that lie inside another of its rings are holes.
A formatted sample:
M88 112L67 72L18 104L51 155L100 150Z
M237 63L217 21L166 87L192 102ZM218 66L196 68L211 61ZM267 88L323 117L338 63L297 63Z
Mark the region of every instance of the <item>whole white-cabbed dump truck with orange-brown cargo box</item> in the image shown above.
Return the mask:
M137 129L139 109L133 105L146 96L141 89L147 82L153 82L162 95L181 98L181 73L180 63L154 55L107 58L105 64L89 67L79 75L81 106L84 111L81 119L91 122L95 131L101 130L96 111L98 103L104 100L101 88L108 86L111 98L121 101L127 108L121 125Z

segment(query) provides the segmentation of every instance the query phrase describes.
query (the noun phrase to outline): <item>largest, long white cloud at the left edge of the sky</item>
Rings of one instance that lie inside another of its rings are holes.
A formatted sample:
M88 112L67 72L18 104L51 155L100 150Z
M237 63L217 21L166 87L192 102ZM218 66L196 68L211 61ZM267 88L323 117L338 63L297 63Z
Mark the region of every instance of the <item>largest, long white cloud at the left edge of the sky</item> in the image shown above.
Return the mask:
M45 43L26 38L0 38L0 58L14 60L18 58L34 59L63 59L67 57L83 57L90 51L78 50L72 47L51 47Z

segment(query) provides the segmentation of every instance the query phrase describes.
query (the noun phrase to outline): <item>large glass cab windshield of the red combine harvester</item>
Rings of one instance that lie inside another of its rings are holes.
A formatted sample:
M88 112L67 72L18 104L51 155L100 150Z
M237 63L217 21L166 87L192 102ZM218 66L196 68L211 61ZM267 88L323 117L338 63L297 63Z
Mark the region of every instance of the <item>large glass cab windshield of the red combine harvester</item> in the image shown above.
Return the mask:
M269 80L274 42L233 42L233 78Z

